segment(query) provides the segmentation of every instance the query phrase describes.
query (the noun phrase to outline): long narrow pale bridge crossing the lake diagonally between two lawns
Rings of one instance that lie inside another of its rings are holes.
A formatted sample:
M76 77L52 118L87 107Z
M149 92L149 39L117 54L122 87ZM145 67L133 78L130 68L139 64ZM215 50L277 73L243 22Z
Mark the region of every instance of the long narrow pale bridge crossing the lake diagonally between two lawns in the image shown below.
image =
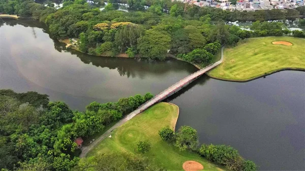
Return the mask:
M120 125L123 125L125 122L129 121L131 118L133 118L134 116L136 116L137 114L143 112L144 110L146 110L147 108L155 105L157 102L160 102L162 100L164 100L165 98L171 96L172 94L176 93L177 91L179 91L180 89L186 87L187 85L189 85L191 82L193 82L194 80L196 80L198 77L200 77L201 75L203 75L205 72L213 69L214 67L216 67L217 65L219 65L222 61L223 61L223 56L224 56L224 47L221 48L221 59L215 63L212 63L206 67L204 67L203 69L187 76L186 78L178 81L177 83L175 83L174 85L168 87L166 90L162 91L161 93L157 94L154 98L151 98L150 100L146 101L143 105L141 105L138 109L136 109L135 111L131 112L130 114L128 114L126 117L124 117L123 119L121 119L119 122L117 122L115 125L113 125L111 128L109 128L104 134L102 134L97 140L95 140L94 142L92 142L89 146L87 147L82 147L81 148L81 154L80 154L80 158L85 157L86 154L93 148L95 147L100 141L104 140L105 138L107 138L110 133L112 132L112 130L114 130L115 128L119 127Z

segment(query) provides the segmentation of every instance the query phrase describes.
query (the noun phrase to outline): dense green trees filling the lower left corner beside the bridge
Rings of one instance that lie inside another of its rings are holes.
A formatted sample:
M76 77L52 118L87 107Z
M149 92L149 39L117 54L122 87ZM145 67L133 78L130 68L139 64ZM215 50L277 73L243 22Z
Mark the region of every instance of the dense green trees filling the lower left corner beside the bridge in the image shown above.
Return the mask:
M74 140L102 131L111 122L153 98L146 93L117 102L92 102L85 112L37 92L0 90L0 168L4 170L71 170L78 164Z

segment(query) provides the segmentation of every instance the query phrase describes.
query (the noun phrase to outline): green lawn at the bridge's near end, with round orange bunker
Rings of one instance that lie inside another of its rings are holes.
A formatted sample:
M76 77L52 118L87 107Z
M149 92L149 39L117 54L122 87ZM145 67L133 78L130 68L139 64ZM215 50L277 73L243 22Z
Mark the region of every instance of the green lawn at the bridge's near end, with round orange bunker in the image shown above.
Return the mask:
M143 156L167 170L183 170L182 164L187 160L200 162L204 170L223 170L196 153L180 152L173 145L161 140L158 131L162 127L173 128L178 111L178 107L172 104L156 104L114 130L111 138L103 140L87 156L102 153L132 153L141 156L142 154L135 152L135 148L138 141L146 141L151 149Z

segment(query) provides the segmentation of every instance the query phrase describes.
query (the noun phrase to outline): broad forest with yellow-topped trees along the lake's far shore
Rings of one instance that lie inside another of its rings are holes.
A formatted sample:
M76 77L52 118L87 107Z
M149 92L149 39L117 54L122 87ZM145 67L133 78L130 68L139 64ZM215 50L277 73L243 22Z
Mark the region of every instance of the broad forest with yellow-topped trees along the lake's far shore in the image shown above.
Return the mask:
M204 66L221 45L235 46L250 37L291 35L304 38L303 31L283 29L281 22L297 19L296 10L227 11L171 1L129 0L130 12L118 11L118 1L109 0L105 10L84 0L64 1L63 8L43 6L31 0L1 0L0 12L32 17L49 27L57 39L79 38L77 49L91 55L147 57L164 60L170 55ZM149 5L144 10L144 5ZM252 20L252 31L229 26L225 21ZM300 20L302 21L302 20Z

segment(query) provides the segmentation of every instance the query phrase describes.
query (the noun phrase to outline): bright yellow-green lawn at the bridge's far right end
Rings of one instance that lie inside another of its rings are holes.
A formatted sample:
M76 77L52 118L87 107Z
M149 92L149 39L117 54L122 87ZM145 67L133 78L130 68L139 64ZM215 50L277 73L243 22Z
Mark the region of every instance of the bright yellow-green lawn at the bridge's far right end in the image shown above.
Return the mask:
M291 42L293 46L273 45L274 41ZM266 37L240 41L225 48L224 61L211 70L211 77L247 81L281 69L305 69L305 39Z

